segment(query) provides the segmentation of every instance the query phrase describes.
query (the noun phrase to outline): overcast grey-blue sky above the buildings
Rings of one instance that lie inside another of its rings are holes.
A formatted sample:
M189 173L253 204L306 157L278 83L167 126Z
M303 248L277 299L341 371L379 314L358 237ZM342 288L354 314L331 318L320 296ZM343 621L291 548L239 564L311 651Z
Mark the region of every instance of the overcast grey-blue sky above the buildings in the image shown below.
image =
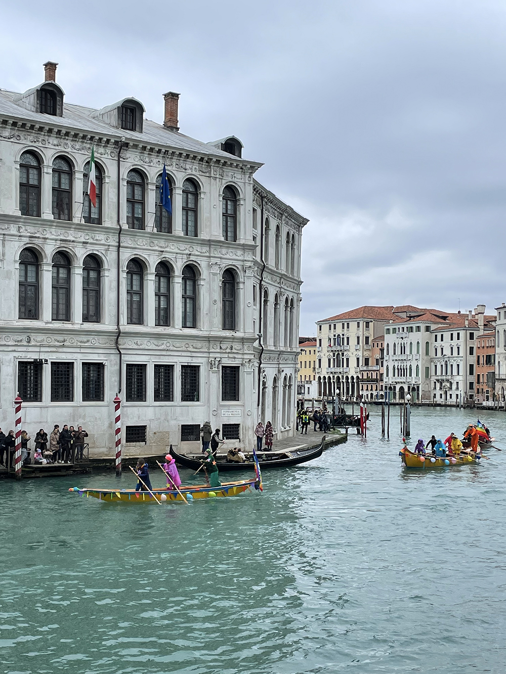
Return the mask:
M65 99L135 96L236 135L310 219L300 334L361 305L506 301L506 3L0 0L0 87L57 61ZM492 312L493 313L493 312Z

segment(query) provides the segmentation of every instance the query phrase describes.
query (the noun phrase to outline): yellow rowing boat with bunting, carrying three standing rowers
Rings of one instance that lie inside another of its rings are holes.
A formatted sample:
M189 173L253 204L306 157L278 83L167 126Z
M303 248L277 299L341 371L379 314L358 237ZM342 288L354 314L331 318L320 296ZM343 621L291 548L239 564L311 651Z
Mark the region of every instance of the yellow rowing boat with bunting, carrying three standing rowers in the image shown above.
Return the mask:
M236 482L224 482L221 487L210 487L209 485L194 485L192 487L184 487L181 485L177 491L170 489L152 489L152 495L148 491L135 491L135 489L87 489L83 487L74 487L69 489L73 493L78 493L80 496L92 497L99 499L99 501L106 501L106 503L154 503L154 501L161 501L161 503L168 503L169 501L183 501L181 494L187 499L208 499L225 496L239 496L245 491L254 491L260 489L260 483L256 479L240 480Z

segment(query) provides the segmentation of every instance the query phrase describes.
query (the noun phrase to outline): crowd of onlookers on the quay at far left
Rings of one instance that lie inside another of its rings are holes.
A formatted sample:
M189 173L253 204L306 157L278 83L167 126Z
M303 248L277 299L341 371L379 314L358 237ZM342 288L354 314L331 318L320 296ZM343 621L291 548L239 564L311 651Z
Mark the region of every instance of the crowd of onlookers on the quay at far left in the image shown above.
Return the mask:
M82 461L84 458L85 438L88 433L78 426L67 424L63 425L60 431L58 424L55 424L49 437L46 431L41 428L34 437L34 450L29 442L32 439L26 431L21 431L21 460L23 465L34 464L63 464ZM0 466L12 467L14 452L16 449L16 437L14 431L9 431L7 435L0 429Z

